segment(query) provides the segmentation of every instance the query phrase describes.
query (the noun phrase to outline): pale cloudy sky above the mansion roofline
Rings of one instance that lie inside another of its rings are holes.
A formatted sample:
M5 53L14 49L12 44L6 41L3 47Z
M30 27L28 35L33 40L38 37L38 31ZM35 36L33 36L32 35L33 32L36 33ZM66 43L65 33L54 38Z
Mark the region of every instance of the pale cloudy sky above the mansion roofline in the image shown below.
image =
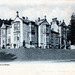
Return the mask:
M16 11L19 11L20 17L28 17L29 20L35 21L46 15L49 23L57 17L68 25L75 12L74 4L72 0L0 0L0 18L15 19Z

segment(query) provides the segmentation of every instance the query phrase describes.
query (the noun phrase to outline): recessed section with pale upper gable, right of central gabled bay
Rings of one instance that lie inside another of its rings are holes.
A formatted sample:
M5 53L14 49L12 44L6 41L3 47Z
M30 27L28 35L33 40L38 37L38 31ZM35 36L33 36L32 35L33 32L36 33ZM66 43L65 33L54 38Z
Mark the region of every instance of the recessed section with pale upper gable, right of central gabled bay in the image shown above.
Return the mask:
M60 48L59 21L53 18L51 22L51 48Z

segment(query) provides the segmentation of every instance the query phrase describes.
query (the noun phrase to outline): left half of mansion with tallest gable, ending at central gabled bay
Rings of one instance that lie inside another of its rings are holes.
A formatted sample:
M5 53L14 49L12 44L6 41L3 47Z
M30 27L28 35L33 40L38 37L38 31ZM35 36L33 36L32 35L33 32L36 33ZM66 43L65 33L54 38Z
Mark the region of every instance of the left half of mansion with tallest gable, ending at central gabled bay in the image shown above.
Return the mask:
M19 48L23 42L27 48L36 47L37 40L37 25L27 17L20 18L17 14L11 25L1 26L1 48Z

